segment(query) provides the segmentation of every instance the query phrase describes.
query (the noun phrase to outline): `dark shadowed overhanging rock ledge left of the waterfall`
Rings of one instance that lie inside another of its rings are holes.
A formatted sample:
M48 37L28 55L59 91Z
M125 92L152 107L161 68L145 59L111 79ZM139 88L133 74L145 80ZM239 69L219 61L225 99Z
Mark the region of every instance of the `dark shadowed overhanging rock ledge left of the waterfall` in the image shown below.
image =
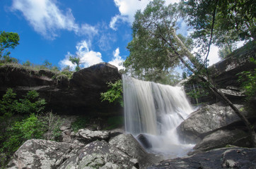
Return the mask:
M11 87L24 95L36 90L47 101L47 108L54 113L91 114L120 113L120 106L100 101L100 93L107 91L106 82L121 79L117 68L109 63L99 63L74 73L71 80L57 77L49 70L31 70L22 66L0 66L0 96Z

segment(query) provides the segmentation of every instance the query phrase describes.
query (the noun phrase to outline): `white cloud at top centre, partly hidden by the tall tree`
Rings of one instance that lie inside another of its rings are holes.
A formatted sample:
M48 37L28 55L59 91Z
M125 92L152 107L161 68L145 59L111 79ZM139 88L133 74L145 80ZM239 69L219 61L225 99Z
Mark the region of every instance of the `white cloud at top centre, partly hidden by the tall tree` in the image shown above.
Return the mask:
M117 30L117 23L127 22L129 24L132 24L136 11L143 11L144 8L146 8L146 5L149 4L149 1L151 0L114 0L115 6L117 6L117 8L119 9L120 14L112 17L110 21L110 27L113 30ZM180 0L166 0L165 4L174 4L175 2L179 1Z

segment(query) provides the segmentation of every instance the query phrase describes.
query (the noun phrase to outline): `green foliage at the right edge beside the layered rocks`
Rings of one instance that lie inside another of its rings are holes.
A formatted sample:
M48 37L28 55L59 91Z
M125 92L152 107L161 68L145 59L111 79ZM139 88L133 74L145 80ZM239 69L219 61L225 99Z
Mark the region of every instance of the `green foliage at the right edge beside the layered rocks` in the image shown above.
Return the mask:
M255 63L255 58L250 58L252 63ZM242 73L238 73L238 81L242 82L242 87L245 89L245 94L247 96L247 100L249 101L256 95L256 68L251 71L243 71Z

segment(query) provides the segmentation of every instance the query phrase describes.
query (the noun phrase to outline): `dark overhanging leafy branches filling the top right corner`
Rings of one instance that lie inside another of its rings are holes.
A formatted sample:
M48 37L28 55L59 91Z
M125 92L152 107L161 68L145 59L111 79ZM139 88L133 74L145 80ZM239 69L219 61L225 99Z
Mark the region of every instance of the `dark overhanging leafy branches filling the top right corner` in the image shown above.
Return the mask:
M256 4L254 0L189 0L183 6L192 37L204 52L211 43L228 43L256 37Z

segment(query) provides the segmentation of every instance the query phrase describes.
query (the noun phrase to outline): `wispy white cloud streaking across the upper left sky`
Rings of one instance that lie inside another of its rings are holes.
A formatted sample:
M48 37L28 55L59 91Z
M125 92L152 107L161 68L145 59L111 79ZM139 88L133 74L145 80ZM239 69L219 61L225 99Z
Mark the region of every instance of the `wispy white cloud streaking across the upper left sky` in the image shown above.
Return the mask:
M48 39L57 37L57 30L74 31L78 35L95 35L97 29L91 25L79 26L71 9L61 11L54 0L13 0L12 10L21 11L34 30Z

